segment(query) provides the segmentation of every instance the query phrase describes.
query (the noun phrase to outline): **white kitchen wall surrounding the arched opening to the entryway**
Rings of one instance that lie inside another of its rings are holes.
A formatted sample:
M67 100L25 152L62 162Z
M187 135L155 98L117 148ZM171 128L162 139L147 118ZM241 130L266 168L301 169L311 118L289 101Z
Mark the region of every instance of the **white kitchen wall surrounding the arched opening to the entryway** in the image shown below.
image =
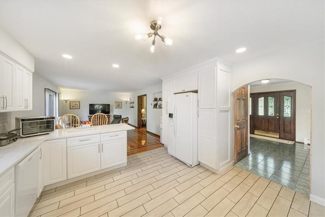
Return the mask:
M280 78L312 87L311 195L325 206L324 39L259 56L233 66L232 91L252 81Z

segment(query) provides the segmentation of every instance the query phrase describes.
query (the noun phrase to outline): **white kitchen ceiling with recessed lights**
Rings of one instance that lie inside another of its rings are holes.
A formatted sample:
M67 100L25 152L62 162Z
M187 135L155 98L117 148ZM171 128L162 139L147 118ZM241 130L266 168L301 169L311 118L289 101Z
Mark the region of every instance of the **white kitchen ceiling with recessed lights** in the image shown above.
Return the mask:
M323 1L1 1L0 14L35 72L64 89L132 92L217 56L236 64L324 38ZM174 43L150 53L152 38L134 36L158 16Z

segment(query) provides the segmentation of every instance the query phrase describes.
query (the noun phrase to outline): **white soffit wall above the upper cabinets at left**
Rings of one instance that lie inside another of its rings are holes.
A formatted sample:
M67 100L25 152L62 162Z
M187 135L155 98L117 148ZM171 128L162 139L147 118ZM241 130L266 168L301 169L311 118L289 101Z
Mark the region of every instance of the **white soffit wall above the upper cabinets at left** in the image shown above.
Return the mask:
M19 64L23 65L31 72L34 72L35 58L14 38L12 38L4 28L0 26L0 48L1 51Z

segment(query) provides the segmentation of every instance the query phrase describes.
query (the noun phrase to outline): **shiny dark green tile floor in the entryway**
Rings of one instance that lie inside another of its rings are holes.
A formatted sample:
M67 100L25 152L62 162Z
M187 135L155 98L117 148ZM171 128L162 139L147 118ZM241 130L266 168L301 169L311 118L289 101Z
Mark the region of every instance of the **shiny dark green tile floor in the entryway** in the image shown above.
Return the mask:
M309 196L310 146L250 137L250 155L235 164Z

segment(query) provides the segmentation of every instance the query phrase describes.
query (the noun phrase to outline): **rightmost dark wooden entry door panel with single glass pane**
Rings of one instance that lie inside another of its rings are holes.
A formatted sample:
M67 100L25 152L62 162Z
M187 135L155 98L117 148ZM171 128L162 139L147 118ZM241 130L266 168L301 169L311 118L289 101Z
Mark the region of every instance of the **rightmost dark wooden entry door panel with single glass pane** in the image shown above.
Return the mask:
M280 138L296 140L296 90L280 93Z

